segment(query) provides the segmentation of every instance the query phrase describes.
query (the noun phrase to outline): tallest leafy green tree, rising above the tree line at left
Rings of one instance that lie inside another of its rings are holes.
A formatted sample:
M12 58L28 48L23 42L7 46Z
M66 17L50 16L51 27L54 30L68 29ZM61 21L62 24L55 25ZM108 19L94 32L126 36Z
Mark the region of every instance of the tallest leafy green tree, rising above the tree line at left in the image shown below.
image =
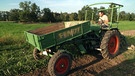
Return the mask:
M40 8L31 1L20 2L20 20L24 22L36 22L40 13Z

